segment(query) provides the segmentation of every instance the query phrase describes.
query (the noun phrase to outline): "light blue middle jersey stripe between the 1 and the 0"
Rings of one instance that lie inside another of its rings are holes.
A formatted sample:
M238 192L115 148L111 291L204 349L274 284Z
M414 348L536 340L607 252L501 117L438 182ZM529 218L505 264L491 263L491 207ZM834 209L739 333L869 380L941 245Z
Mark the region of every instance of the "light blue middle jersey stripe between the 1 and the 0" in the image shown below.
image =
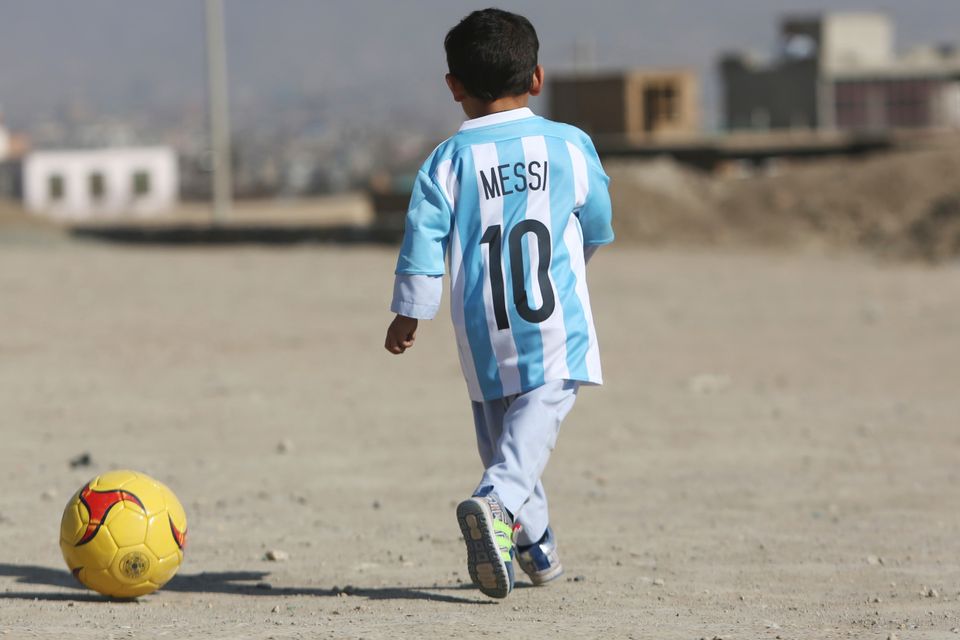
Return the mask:
M520 317L517 312L516 300L513 296L513 271L511 269L514 256L510 252L510 231L521 220L527 216L527 190L524 186L526 178L517 178L514 173L514 166L519 163L526 167L526 161L523 154L523 143L519 138L513 138L504 142L497 143L497 156L500 158L500 164L508 164L504 168L504 174L508 180L504 183L503 195L503 269L506 297L507 314L510 318L510 329L513 334L513 342L517 348L517 366L520 369L520 385L522 390L527 391L543 384L543 340L540 337L540 326L527 322ZM521 172L522 173L522 172ZM523 189L522 191L520 189ZM510 193L508 193L508 191ZM533 304L533 282L535 278L531 274L531 259L529 250L529 238L525 237L521 243L521 254L523 259L524 288L527 292L528 303Z

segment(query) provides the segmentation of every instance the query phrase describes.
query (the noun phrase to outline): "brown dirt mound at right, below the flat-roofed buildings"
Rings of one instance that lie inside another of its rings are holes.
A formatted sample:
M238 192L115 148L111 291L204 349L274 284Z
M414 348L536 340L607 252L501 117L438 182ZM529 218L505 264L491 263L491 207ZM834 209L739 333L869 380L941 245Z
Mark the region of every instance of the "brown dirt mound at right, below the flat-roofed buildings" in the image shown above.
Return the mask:
M671 160L611 163L619 238L641 243L825 246L960 257L960 152L782 163L715 177Z

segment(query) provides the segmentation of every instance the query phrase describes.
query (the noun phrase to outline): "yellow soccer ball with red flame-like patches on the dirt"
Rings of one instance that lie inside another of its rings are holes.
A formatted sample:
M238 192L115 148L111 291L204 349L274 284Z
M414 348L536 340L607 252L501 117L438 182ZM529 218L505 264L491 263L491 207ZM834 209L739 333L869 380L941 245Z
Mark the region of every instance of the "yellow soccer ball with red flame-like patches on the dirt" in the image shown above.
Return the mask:
M156 591L180 568L187 516L166 486L135 471L111 471L77 491L63 510L60 550L73 576L114 598Z

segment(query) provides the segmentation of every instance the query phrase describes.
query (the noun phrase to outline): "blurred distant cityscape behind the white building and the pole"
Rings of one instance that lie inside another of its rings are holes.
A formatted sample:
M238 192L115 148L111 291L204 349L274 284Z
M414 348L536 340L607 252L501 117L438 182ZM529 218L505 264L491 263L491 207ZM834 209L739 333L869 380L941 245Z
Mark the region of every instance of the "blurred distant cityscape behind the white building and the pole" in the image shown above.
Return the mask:
M255 120L255 122L252 122ZM233 127L234 194L238 198L293 197L366 188L371 177L391 174L435 144L429 131L442 125L410 119L397 127L331 116L309 100L241 119ZM30 122L15 133L25 152L169 146L179 159L180 196L206 199L211 190L209 126L200 107L144 110L103 116L83 105ZM439 135L439 134L437 134ZM9 193L8 196L13 195Z

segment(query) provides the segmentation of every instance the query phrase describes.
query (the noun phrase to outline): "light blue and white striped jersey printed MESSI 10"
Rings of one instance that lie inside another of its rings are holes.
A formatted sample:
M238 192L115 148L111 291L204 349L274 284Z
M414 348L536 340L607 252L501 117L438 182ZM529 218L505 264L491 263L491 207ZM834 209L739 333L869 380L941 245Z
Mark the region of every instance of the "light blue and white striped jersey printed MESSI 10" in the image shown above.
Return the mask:
M472 400L602 383L584 249L613 241L608 182L589 136L526 108L468 120L424 162L396 273L442 276L449 256Z

